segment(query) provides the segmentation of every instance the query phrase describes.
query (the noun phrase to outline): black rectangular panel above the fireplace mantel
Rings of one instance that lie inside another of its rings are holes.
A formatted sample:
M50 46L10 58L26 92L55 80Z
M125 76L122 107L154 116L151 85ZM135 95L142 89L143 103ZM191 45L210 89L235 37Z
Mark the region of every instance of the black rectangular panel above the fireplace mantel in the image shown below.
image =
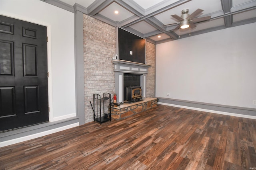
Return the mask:
M116 49L119 60L145 64L146 39L117 27Z

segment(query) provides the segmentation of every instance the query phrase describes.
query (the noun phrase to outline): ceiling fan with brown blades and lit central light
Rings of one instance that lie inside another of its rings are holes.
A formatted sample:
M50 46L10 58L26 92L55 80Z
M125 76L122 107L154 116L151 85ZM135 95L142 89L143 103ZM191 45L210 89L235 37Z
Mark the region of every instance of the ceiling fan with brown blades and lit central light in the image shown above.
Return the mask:
M172 15L173 18L175 18L176 20L179 20L180 22L177 23L169 23L163 26L168 26L168 25L176 25L179 24L176 28L174 29L185 29L185 28L194 28L196 27L195 23L198 22L202 22L202 21L206 21L206 20L210 20L211 16L206 16L206 17L200 17L200 18L196 18L201 12L203 12L204 10L201 9L197 9L195 12L193 12L192 14L188 14L188 9L182 10L181 11L181 16L178 16L176 14Z

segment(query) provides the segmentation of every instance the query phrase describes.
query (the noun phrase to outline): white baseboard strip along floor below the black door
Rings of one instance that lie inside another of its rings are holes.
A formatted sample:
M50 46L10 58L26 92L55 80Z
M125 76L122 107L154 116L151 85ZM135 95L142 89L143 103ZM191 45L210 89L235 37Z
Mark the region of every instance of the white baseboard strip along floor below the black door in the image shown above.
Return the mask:
M15 144L15 143L28 141L30 139L35 139L35 138L38 138L38 137L42 137L42 136L45 136L45 135L50 135L52 133L56 133L56 132L59 132L59 131L64 131L66 129L70 129L70 128L76 127L76 126L79 126L79 123L73 123L73 124L70 124L70 125L63 126L63 127L58 127L56 129L51 129L51 130L48 130L48 131L44 131L44 132L36 133L36 134L33 134L33 135L28 135L28 136L12 139L12 140L9 140L9 141L3 141L3 142L0 142L0 148L8 146L8 145Z

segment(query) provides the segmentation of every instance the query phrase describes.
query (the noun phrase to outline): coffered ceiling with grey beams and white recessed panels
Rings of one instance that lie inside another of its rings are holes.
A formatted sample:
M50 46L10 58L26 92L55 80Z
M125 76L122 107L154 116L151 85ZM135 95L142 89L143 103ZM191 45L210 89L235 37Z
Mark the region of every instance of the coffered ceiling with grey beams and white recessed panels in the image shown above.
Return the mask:
M74 9L119 26L152 43L173 41L228 27L256 22L256 0L42 0L71 12ZM181 11L192 14L204 10L196 18L211 16L194 28L175 29L179 21L171 15ZM118 11L118 14L114 12ZM246 30L244 30L246 32ZM189 35L190 34L190 35ZM159 36L160 35L160 36ZM250 36L250 35L248 35Z

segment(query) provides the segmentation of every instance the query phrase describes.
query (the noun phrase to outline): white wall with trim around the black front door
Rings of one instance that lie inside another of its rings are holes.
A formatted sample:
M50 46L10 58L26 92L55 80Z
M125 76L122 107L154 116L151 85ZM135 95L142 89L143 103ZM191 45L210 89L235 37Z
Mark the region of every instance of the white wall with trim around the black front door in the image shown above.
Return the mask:
M74 13L40 0L0 0L0 14L48 27L50 119L76 115Z

